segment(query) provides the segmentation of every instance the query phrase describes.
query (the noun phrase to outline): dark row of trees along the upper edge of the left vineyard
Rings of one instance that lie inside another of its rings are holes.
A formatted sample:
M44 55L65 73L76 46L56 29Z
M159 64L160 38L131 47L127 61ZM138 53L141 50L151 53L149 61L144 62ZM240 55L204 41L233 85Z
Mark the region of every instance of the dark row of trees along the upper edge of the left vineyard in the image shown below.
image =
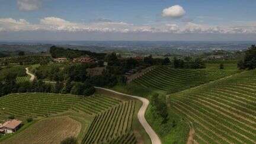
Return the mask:
M16 76L9 73L4 80L0 81L0 97L15 92L48 92L88 96L94 94L95 88L85 82L72 82L70 79L66 82L57 81L56 84L42 80L17 83Z

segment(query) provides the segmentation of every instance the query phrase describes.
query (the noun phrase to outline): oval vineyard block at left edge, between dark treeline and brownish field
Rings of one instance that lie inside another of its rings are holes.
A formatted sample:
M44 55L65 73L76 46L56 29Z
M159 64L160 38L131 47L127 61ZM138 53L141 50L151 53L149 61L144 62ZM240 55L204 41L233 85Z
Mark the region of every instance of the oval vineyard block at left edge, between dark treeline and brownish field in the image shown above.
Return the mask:
M9 94L0 98L0 107L3 113L15 117L39 117L66 111L79 101L74 95Z

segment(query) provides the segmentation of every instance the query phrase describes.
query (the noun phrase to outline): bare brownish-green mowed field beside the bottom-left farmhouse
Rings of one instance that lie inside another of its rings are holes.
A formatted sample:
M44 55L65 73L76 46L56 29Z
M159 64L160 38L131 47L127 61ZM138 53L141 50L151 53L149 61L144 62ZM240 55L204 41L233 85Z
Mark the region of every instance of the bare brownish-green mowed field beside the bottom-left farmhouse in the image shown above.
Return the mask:
M77 136L81 123L70 117L52 117L43 119L1 143L60 143L69 136Z

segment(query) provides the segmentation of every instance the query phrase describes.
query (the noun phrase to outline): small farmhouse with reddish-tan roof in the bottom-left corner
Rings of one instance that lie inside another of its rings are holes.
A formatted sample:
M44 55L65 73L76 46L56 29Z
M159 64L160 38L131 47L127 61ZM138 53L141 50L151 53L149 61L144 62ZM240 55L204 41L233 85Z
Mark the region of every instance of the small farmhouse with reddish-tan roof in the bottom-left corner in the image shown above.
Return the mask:
M4 124L0 124L0 133L14 133L20 126L22 121L20 120L8 120Z

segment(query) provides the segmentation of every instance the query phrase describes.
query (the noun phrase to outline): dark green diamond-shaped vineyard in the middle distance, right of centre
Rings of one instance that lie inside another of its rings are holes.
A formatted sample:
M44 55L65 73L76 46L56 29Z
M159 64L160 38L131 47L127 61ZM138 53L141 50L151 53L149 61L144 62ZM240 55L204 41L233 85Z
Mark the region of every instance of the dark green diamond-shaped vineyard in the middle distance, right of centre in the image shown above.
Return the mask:
M133 82L144 87L161 89L172 93L196 87L197 85L231 75L232 73L235 72L216 72L214 69L174 69L169 66L158 66L158 68L147 72Z

